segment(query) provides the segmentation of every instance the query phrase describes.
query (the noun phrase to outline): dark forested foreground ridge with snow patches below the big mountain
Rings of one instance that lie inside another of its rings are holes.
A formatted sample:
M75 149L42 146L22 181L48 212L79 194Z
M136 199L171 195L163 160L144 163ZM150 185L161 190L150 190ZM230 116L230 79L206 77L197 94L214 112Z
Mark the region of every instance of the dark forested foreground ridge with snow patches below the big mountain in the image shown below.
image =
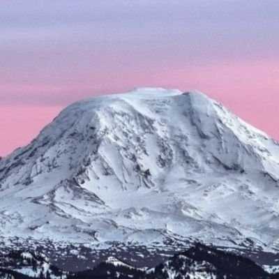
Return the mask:
M24 260L22 261L22 255ZM93 269L68 273L59 269L50 269L47 265L45 272L36 272L37 264L33 264L34 257L30 253L14 253L9 259L9 267L0 268L1 279L278 279L278 273L268 273L250 259L234 255L232 252L223 252L213 247L194 243L188 250L170 257L162 264L152 268L139 269L121 262L115 257L109 257ZM45 260L39 262L44 266ZM24 266L19 268L20 266ZM28 265L31 267L29 271ZM14 271L16 270L16 271ZM50 272L55 270L55 272Z

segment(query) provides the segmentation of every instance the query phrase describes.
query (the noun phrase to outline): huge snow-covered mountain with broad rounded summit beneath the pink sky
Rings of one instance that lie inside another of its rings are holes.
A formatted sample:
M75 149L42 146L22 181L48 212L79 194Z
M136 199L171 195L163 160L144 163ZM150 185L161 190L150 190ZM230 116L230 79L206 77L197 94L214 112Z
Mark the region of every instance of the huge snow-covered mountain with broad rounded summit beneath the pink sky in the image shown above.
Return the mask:
M276 262L278 179L278 142L198 91L90 98L0 160L0 247L77 270L194 241Z

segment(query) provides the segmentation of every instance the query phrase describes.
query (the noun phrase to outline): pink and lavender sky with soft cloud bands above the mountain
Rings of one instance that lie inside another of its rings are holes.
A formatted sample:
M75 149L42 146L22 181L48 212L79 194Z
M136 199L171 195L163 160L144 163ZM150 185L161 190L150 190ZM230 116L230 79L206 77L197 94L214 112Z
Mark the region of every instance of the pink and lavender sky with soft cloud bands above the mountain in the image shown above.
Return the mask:
M278 0L0 0L0 155L66 105L198 89L279 139Z

